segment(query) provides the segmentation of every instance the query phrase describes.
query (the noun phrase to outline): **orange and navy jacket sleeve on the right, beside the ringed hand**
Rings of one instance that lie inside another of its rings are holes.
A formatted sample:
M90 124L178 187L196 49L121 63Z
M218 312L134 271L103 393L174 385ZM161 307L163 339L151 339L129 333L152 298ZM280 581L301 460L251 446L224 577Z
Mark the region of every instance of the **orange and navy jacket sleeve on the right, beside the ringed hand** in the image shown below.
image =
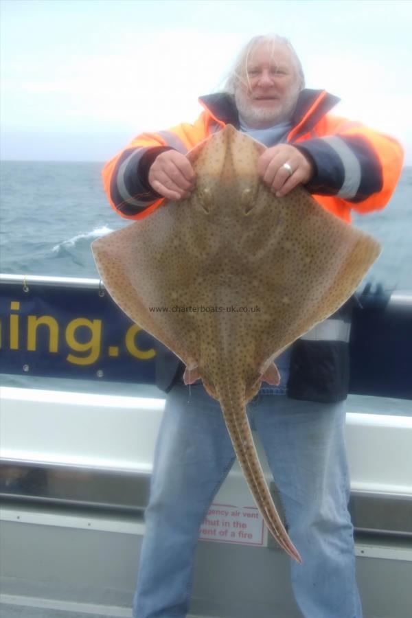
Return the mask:
M312 194L341 198L359 213L385 207L402 171L399 142L332 115L325 116L313 133L294 144L314 163L306 188Z

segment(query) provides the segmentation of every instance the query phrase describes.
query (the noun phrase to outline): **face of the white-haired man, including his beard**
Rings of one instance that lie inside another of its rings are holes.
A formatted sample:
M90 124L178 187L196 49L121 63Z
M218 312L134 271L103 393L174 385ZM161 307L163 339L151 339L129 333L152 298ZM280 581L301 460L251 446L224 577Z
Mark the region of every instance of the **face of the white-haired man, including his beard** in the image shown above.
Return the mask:
M249 55L246 69L235 91L244 121L252 128L267 128L288 120L299 95L288 48L262 43Z

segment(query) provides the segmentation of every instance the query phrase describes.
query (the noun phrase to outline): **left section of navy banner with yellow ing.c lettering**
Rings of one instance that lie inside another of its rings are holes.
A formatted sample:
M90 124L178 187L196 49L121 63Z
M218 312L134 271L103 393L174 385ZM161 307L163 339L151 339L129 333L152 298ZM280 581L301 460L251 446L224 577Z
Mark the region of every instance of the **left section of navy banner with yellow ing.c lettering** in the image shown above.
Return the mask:
M152 384L154 341L104 290L1 284L3 374Z

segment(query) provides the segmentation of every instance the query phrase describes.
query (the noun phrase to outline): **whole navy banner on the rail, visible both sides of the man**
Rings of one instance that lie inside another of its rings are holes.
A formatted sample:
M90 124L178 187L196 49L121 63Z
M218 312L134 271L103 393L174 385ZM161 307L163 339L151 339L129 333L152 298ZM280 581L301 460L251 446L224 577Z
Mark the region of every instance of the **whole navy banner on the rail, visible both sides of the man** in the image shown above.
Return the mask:
M105 290L2 282L0 293L0 373L155 384L155 339ZM352 317L350 393L412 399L411 297L360 299Z

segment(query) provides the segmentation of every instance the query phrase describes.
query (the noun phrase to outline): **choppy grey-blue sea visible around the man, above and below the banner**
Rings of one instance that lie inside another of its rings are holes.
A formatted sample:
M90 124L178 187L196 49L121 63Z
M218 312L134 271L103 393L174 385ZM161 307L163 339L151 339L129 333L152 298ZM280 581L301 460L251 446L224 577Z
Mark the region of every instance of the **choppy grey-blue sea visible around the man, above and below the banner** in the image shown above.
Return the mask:
M109 205L100 162L1 161L0 272L98 278L90 244L130 225ZM412 167L405 167L389 204L353 225L371 233L382 253L361 282L412 293ZM163 397L156 387L34 376L0 376L3 385ZM350 410L412 415L412 402L350 396ZM390 412L389 412L390 410Z

